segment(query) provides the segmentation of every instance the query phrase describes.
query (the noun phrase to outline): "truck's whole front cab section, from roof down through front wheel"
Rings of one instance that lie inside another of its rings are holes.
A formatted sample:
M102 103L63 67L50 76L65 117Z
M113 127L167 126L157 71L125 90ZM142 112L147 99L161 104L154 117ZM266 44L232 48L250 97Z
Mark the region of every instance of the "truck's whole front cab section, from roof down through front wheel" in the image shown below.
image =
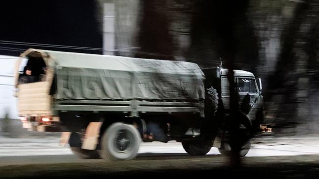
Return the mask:
M205 74L205 88L215 88L218 95L218 109L214 120L219 121L218 134L214 139L214 146L221 154L230 154L230 85L228 69L223 67L202 69ZM260 129L267 126L261 125L264 117L264 99L262 96L262 81L256 79L249 71L234 70L235 91L238 93L239 112L237 120L240 121L239 130L240 156L245 156L251 145L251 137Z

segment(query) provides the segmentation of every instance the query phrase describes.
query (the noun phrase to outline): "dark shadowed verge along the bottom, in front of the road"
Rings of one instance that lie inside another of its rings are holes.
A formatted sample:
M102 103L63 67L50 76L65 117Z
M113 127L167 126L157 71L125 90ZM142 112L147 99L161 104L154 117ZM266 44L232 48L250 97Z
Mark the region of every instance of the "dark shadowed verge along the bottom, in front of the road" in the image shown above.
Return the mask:
M72 163L3 166L0 178L6 179L109 179L142 177L245 178L245 179L316 179L319 156L244 157L241 167L229 167L229 158L219 155L205 157L141 156L136 160L106 162L81 160Z

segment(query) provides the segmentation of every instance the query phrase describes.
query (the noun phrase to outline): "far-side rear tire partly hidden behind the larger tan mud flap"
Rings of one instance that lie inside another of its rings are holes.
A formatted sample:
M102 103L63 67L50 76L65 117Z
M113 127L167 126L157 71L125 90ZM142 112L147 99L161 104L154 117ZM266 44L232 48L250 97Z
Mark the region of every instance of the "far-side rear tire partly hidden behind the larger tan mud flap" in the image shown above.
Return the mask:
M70 148L73 154L77 155L81 159L96 159L101 158L98 150L86 150L81 149L81 138L78 133L72 133L70 135Z

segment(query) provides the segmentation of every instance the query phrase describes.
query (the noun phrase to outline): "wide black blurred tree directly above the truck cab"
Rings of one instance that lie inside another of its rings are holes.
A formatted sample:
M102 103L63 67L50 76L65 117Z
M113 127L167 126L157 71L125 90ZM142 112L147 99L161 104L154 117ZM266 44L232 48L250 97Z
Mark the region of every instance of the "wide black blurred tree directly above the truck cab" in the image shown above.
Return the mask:
M254 71L259 63L258 38L246 15L248 5L249 0L197 0L187 59L195 59L202 66L215 67L220 64L220 57L223 59L225 52L229 53L225 44L230 43L228 39L232 38L234 66L250 64L249 70ZM229 32L232 37L222 35Z

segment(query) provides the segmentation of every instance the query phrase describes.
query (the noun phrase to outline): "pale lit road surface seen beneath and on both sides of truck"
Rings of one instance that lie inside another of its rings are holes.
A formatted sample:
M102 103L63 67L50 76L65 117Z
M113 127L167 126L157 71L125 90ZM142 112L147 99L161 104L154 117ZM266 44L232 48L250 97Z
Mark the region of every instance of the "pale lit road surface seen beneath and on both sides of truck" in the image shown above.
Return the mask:
M56 137L44 139L0 138L0 166L29 163L78 162L68 146L59 146ZM246 157L319 155L319 137L255 138ZM220 155L213 147L208 156ZM160 157L189 157L181 143L142 143L136 160Z

